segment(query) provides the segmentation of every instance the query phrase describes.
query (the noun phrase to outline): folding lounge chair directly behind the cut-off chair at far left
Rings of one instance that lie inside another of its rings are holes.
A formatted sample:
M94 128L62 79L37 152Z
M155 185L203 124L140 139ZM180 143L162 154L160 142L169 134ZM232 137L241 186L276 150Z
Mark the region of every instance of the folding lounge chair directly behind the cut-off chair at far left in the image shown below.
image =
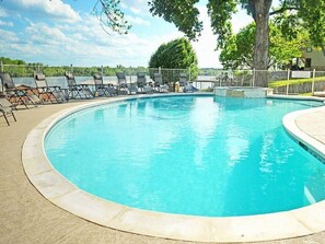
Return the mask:
M42 101L35 94L28 93L30 89L24 89L24 88L18 89L9 72L1 72L0 79L1 79L2 88L4 90L4 95L12 104L15 104L15 105L22 104L26 108L30 108L28 104L32 104L36 107L37 104L42 103Z

